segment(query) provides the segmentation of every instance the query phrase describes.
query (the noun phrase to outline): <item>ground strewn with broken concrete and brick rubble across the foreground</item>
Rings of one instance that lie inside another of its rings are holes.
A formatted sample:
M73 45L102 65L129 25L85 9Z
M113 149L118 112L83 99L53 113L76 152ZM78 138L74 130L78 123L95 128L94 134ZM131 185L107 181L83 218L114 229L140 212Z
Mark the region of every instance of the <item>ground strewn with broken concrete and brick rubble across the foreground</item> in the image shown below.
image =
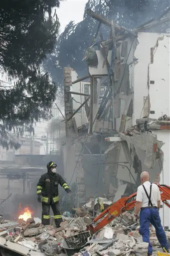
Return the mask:
M68 256L147 256L148 243L142 240L139 223L133 222L133 212L123 213L121 217L116 218L93 235L87 230L87 225L93 220L91 213L90 207L89 209L88 207L77 208L74 218L63 216L64 221L59 228L55 227L52 217L52 224L47 226L43 226L41 220L36 217L29 218L27 221L19 219L16 222L1 218L0 238L3 237L5 242L0 242L0 248L3 248L2 252L0 250L0 256L12 255L2 254L5 246L9 248L9 242L28 248L28 252L22 255L30 256L52 256L61 253L66 253ZM170 232L167 231L166 234L170 239ZM150 239L154 248L153 255L157 255L157 252L162 249L159 247L153 227L151 227ZM38 252L38 254L33 254L33 252ZM20 255L19 251L18 255Z

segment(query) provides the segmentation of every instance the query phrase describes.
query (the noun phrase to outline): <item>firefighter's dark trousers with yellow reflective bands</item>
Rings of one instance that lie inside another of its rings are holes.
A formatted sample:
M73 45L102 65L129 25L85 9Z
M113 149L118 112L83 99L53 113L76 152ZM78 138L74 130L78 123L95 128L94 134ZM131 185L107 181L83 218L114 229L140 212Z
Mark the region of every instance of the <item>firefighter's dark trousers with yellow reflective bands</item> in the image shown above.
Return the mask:
M50 224L50 206L53 210L54 213L54 219L55 219L55 224L57 227L59 227L59 224L62 222L62 215L59 210L59 202L56 203L44 203L42 202L42 224L43 225L49 225Z

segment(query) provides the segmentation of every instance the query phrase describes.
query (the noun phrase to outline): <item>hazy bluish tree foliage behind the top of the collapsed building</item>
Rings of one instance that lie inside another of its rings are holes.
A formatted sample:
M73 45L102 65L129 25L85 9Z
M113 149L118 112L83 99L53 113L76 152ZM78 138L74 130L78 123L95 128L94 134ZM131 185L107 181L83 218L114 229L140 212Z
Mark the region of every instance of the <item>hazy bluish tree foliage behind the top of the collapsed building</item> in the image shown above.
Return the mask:
M92 9L109 19L114 19L119 25L132 29L151 18L159 17L168 6L169 0L88 0L85 9ZM86 49L93 43L98 24L98 21L86 13L84 19L78 24L71 21L59 36L53 53L49 54L45 60L46 70L51 73L53 80L58 82L61 88L63 67L71 66L80 77L87 74L87 65L82 58ZM157 26L150 31L165 32L166 28L167 26ZM108 39L107 26L101 25L100 31L104 40ZM96 41L101 41L100 36Z

